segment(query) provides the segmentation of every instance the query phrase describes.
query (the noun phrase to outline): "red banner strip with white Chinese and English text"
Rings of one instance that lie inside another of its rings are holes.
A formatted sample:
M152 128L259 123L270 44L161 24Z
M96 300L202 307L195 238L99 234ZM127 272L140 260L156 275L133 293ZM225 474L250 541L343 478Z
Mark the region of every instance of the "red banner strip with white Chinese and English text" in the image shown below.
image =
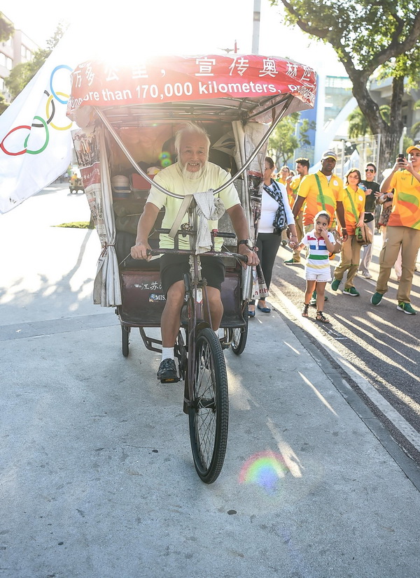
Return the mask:
M291 94L314 106L316 74L309 66L259 55L155 57L133 66L85 62L73 72L68 113L110 106Z

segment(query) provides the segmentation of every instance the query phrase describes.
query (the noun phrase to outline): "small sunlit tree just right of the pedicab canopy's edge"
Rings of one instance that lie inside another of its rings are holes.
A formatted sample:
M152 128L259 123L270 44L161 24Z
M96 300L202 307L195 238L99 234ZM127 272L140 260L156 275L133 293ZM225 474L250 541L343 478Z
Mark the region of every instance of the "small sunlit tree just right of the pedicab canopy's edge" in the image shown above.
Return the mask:
M299 127L300 124L300 127ZM268 141L268 154L277 164L287 164L293 159L295 150L309 146L308 131L315 129L315 123L307 118L300 120L300 113L292 113L277 124Z

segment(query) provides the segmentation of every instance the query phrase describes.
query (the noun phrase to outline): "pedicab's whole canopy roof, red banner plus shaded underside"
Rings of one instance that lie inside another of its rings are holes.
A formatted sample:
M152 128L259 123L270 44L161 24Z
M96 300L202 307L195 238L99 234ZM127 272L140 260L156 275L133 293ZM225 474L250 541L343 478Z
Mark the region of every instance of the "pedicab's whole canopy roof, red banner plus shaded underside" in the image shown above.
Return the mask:
M254 120L314 107L309 66L261 55L159 56L136 64L84 62L72 75L67 115L85 127L94 108L113 126Z

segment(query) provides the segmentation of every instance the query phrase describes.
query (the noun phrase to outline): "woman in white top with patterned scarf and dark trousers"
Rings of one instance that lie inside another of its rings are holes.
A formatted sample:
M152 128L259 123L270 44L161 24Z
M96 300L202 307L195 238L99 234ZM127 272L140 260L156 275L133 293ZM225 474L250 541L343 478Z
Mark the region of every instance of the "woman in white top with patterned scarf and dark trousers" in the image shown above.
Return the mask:
M287 227L290 229L290 243L297 244L295 219L288 203L286 187L272 179L274 162L270 157L265 157L264 181L262 182L261 215L258 222L258 258L265 284L269 289L272 278L272 270L277 251L281 242L281 231ZM271 310L265 303L265 298L258 300L258 309L263 313ZM249 304L249 317L255 317L255 301Z

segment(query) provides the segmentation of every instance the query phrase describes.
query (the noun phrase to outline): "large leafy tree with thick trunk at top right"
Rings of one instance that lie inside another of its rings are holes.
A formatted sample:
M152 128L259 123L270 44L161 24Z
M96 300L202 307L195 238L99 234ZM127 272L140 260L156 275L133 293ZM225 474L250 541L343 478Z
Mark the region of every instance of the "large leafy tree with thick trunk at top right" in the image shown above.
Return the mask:
M335 50L353 83L353 96L373 134L381 134L381 166L398 152L404 80L420 78L417 0L270 0L286 8L286 22ZM370 79L391 77L389 121L369 93Z

